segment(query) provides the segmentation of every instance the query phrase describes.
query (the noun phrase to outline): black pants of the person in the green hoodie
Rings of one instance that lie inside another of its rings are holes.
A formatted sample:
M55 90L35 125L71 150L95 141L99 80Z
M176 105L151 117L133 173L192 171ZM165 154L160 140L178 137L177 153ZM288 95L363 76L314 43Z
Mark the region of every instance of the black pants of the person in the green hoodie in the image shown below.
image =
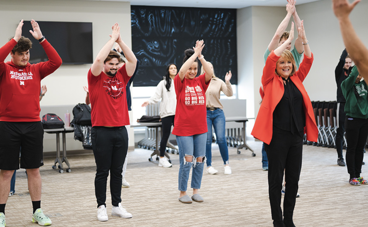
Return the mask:
M364 156L364 146L368 136L368 119L346 116L346 166L350 179L360 177Z

